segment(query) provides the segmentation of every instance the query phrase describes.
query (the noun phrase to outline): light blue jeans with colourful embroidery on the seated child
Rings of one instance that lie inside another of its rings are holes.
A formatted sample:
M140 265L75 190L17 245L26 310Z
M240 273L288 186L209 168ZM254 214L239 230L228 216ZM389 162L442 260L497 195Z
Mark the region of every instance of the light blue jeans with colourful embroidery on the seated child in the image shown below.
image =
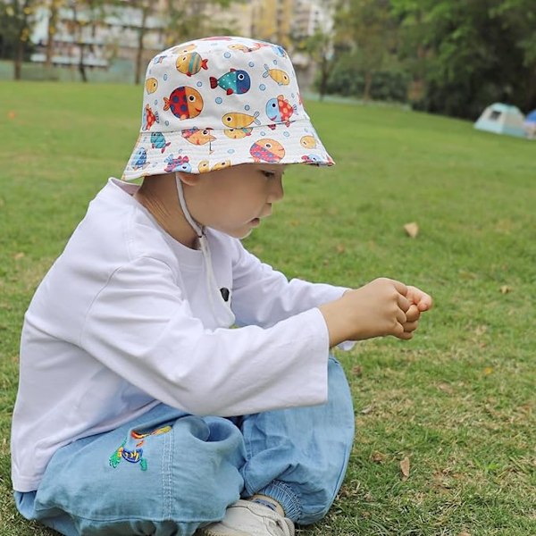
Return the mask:
M354 412L339 362L329 401L236 418L156 406L120 428L60 448L22 515L67 536L191 536L240 497L277 499L296 523L321 519L348 466Z

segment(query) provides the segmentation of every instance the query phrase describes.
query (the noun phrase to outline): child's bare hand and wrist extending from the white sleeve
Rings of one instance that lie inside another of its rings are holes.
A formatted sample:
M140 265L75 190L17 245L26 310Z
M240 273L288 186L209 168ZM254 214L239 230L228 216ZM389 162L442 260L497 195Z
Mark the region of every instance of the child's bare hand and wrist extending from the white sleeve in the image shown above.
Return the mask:
M332 347L344 340L385 335L411 339L421 313L430 307L431 297L422 290L379 278L319 308L328 325Z

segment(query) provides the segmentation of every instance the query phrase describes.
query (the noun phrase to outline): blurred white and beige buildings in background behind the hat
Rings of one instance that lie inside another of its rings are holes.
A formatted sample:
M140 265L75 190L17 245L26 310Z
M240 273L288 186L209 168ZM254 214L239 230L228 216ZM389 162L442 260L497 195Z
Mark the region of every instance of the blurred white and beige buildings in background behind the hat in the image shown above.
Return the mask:
M158 51L177 42L176 37L170 37L171 2L147 0L145 12L134 6L143 5L141 2L128 0L101 3L94 10L88 8L89 3L73 0L56 2L60 7L55 13L41 7L35 15L31 39L36 49L31 61L71 67L75 74L88 69L93 73L92 80L95 71L100 71L105 80L133 80L139 57L145 66ZM331 4L332 0L237 0L222 7L205 0L197 2L195 9L211 25L287 48L303 86L311 82L314 65L307 54L297 50L299 43L317 31L331 31ZM193 29L192 34L196 38L205 35L203 29L199 35Z

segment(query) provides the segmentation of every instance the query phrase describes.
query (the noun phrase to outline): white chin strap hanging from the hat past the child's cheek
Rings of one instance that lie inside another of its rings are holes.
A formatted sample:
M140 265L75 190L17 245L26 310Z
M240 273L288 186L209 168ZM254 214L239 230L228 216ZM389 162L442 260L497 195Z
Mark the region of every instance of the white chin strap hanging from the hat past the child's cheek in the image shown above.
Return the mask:
M199 248L205 259L205 273L206 273L206 292L208 294L210 305L213 310L214 318L218 323L224 327L230 327L235 322L235 315L230 309L229 302L225 301L222 297L222 293L216 283L214 277L212 257L210 255L210 248L208 247L208 240L205 236L205 228L197 223L189 214L188 206L186 205L186 199L184 198L184 189L182 188L182 181L180 180L179 173L175 173L175 183L177 184L177 193L179 194L179 203L182 213L186 218L186 221L190 224L191 228L196 231L197 240L199 241ZM215 296L215 297L214 297Z

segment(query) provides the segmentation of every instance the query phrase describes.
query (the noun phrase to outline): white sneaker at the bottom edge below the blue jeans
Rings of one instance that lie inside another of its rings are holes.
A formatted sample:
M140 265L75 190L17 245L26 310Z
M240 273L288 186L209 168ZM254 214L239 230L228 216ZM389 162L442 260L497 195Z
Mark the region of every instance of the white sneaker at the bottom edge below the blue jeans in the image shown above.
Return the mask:
M227 508L222 521L198 529L196 535L294 536L294 523L269 507L240 499Z

